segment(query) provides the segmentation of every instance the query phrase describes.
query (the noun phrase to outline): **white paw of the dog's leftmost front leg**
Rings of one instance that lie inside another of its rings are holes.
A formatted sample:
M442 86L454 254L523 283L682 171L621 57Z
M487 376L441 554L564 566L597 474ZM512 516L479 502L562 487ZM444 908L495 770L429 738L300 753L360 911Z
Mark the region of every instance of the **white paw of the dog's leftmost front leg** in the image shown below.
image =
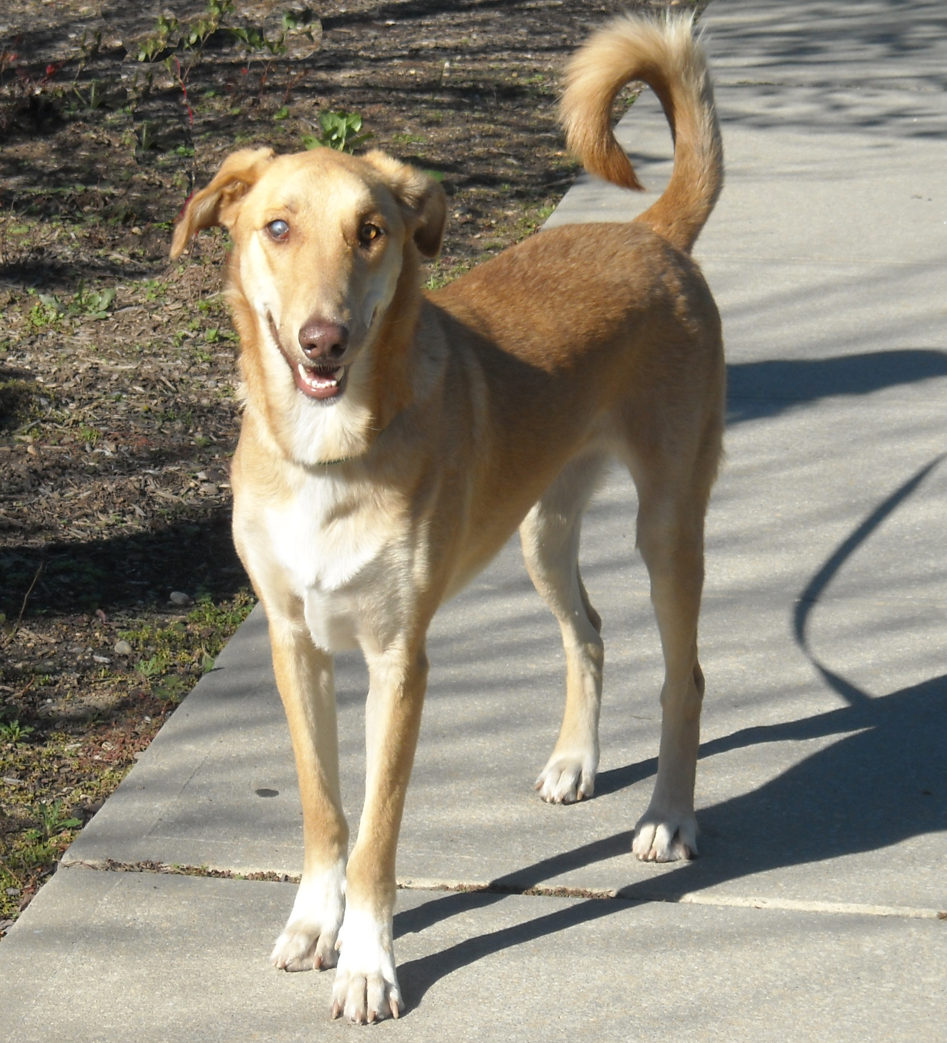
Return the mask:
M270 961L284 971L325 970L337 959L335 942L346 911L346 867L304 878Z

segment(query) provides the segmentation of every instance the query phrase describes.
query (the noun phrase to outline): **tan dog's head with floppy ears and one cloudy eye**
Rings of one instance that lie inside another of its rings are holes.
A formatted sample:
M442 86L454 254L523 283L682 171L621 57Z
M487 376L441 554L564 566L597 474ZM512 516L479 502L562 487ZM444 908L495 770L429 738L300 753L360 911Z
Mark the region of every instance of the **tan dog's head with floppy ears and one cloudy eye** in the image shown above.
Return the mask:
M398 383L419 254L440 249L445 211L422 171L382 152L326 148L242 149L185 207L171 258L200 228L230 232L247 398L300 463L360 455L386 422L379 394Z

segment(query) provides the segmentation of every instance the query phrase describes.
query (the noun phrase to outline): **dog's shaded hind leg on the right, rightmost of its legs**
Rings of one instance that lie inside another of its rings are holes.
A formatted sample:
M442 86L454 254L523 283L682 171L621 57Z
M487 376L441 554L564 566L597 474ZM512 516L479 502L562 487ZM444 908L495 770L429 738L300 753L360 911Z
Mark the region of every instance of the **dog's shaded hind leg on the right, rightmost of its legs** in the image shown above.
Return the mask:
M676 862L697 853L693 793L704 698L697 616L704 585L704 513L716 453L703 456L689 474L669 460L648 468L647 475L633 467L639 495L638 547L650 577L665 668L658 778L632 844L633 852L646 862Z

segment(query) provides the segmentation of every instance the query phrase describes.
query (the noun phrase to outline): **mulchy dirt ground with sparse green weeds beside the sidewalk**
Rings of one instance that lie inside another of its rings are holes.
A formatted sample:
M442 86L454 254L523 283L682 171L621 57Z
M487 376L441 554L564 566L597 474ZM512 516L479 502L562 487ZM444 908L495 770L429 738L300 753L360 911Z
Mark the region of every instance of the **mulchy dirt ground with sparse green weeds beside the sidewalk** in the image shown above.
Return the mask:
M560 74L629 6L6 0L0 936L254 603L229 534L226 238L167 260L189 192L235 146L299 150L321 115L357 115L366 145L443 178L443 285L571 184Z

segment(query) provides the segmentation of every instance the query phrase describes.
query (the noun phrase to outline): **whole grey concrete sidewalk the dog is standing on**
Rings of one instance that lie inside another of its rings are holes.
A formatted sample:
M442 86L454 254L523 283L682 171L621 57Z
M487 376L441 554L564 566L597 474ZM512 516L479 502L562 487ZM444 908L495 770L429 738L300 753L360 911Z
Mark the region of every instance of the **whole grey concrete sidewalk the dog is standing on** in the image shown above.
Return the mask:
M731 390L707 538L702 857L629 853L656 769L661 657L616 471L582 556L607 650L596 797L550 807L531 790L564 664L513 542L432 629L399 848L409 1011L375 1030L947 1038L947 13L714 0L704 21L728 181L696 256ZM660 191L670 144L654 99L621 136ZM626 220L654 192L583 177L549 223ZM0 1040L349 1030L328 1019L331 974L266 963L291 884L102 871L299 872L259 610L217 665L0 944ZM339 657L337 684L354 823L355 657ZM491 881L553 890L433 890Z

